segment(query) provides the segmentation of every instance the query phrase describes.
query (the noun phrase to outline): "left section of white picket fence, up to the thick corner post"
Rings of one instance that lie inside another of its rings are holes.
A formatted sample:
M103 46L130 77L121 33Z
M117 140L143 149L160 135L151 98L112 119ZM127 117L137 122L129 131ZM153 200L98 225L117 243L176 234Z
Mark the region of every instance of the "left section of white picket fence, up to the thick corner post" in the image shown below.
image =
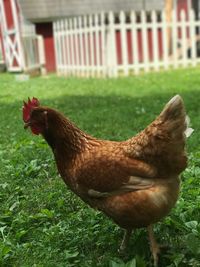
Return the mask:
M104 14L59 20L53 28L59 73L80 76L106 73Z

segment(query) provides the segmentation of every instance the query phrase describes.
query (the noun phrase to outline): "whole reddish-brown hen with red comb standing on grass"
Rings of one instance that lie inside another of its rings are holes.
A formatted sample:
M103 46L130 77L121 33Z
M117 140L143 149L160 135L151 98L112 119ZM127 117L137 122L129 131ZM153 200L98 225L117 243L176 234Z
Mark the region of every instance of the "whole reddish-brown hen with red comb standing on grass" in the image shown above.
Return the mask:
M154 265L160 246L152 225L174 207L180 174L187 166L185 139L192 130L179 95L135 137L123 142L96 139L60 112L24 102L24 128L51 147L66 185L91 207L125 229L123 251L133 229L147 227Z

